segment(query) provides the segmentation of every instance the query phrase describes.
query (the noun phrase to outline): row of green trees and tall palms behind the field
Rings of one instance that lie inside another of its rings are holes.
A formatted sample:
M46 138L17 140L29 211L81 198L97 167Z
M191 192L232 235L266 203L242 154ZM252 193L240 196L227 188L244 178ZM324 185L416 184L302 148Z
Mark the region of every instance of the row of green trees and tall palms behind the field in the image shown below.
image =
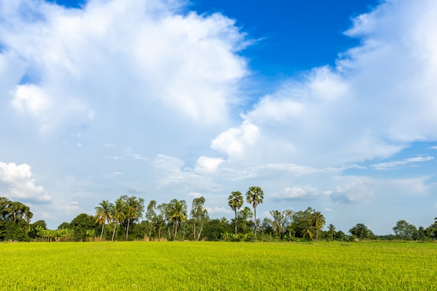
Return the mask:
M429 227L418 229L406 221L398 221L394 234L376 236L366 225L358 223L348 234L337 231L332 224L325 226L320 211L308 207L302 211L286 209L269 211L272 218L257 218L256 209L264 193L252 186L246 197L232 191L228 206L234 218L209 218L205 197L195 197L191 209L185 200L173 199L157 204L151 200L147 207L141 197L122 195L114 202L103 200L91 214L79 214L56 230L47 228L45 221L31 223L33 214L21 202L0 197L0 241L353 241L360 239L437 239L437 218ZM245 198L245 199L244 199ZM247 202L250 207L243 207Z

